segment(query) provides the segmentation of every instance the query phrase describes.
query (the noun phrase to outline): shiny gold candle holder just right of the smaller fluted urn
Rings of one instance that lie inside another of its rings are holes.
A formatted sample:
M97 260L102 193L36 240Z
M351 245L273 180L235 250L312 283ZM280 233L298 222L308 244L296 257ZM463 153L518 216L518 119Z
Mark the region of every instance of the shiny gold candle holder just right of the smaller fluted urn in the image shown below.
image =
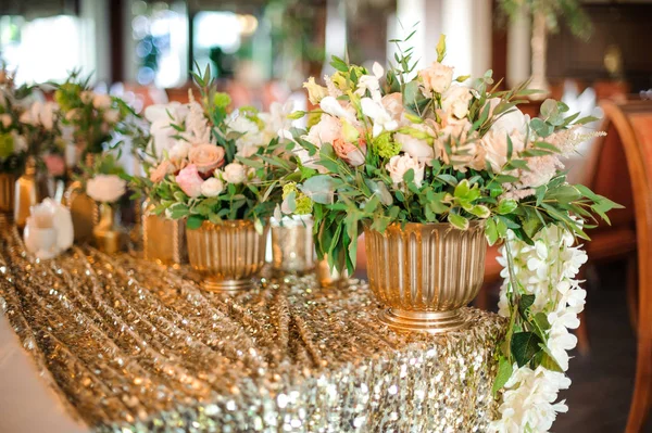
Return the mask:
M305 273L315 267L312 216L272 218L272 267L278 272Z

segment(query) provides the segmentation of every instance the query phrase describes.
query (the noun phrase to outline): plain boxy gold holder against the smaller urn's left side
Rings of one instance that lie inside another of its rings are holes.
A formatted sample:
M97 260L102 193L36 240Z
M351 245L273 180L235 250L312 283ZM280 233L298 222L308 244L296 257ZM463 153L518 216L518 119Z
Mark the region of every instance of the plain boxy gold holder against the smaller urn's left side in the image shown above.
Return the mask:
M188 262L185 220L152 214L153 205L142 204L142 251L148 260L165 265Z

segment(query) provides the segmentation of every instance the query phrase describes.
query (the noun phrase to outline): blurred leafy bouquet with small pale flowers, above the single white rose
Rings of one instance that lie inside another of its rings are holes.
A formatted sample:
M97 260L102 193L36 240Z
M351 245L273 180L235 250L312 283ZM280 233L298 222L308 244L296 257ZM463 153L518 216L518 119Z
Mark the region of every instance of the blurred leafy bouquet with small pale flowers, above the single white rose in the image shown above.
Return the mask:
M83 79L73 72L65 82L58 86L54 100L62 113L62 124L72 127L73 141L82 156L99 154L110 143L113 132L124 127L124 120L134 111L120 98L96 93L89 86L89 78Z

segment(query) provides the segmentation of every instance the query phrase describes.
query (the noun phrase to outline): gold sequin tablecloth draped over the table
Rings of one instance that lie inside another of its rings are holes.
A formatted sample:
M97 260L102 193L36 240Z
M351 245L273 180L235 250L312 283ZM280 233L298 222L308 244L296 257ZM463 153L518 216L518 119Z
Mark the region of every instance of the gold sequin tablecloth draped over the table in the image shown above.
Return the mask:
M381 326L368 288L311 276L228 296L188 268L75 247L26 254L4 229L5 317L70 413L99 432L482 432L503 322Z

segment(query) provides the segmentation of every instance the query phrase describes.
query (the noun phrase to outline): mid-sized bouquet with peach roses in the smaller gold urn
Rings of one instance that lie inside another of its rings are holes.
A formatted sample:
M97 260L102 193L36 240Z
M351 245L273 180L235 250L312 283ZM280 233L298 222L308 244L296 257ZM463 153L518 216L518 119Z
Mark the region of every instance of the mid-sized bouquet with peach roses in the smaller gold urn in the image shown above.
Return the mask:
M284 144L276 136L287 127L288 107L275 105L271 113L259 113L246 106L229 113L231 100L216 91L209 71L193 76L201 104L191 99L187 105L146 113L152 122L150 154L156 162L149 179L136 183L149 191L154 214L187 218L190 229L204 220L262 224L278 202L276 189L269 187L285 174L267 162L286 164L278 156Z

